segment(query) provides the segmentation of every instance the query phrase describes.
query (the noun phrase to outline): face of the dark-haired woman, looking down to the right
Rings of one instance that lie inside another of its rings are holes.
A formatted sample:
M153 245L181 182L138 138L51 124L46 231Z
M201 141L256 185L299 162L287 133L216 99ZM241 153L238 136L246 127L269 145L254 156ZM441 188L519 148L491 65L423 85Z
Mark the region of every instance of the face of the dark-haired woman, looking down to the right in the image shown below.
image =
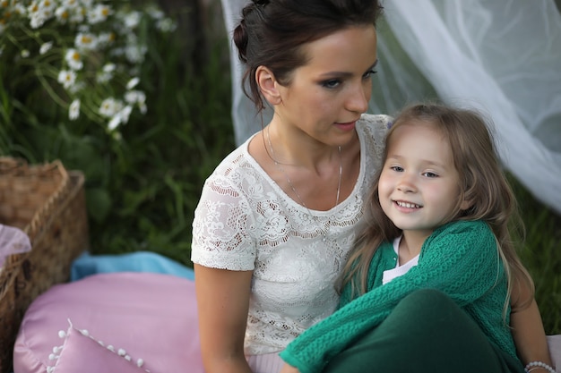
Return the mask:
M306 44L307 64L276 87L275 116L315 140L343 145L367 111L376 64L374 26L352 27Z

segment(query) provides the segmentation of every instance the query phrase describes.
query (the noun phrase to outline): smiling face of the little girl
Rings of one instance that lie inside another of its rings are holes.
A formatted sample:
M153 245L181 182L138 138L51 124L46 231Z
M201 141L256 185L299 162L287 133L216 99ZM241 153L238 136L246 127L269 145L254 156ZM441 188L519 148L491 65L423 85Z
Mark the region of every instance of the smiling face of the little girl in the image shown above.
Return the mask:
M460 196L452 148L433 124L414 121L393 131L387 150L378 187L384 213L404 233L428 236L450 219Z

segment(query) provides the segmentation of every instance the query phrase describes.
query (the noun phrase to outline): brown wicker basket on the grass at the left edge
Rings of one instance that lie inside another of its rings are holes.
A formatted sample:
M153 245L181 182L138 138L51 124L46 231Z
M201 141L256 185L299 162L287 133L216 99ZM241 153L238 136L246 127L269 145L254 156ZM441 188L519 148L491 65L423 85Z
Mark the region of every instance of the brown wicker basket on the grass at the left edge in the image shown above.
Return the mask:
M31 301L70 276L89 246L83 174L58 161L27 165L0 157L0 224L22 229L31 250L0 269L0 373L12 368L13 343Z

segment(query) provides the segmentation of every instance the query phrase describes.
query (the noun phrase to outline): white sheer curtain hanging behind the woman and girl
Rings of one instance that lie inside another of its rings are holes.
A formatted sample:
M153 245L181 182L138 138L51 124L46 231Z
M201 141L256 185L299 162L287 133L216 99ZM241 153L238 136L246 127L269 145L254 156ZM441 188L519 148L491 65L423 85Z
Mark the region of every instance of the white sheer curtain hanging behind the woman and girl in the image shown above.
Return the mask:
M221 1L227 30L233 30L247 1ZM561 213L561 16L554 1L383 4L370 111L393 114L410 101L431 97L478 108L493 120L505 167ZM239 88L237 54L230 55L232 116L240 143L262 122Z

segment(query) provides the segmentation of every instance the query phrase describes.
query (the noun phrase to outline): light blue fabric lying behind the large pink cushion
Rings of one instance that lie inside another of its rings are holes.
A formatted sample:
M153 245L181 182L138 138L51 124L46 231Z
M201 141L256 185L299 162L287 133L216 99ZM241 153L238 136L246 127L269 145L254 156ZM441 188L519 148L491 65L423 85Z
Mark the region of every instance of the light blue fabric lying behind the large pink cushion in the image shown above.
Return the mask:
M70 280L110 272L151 272L194 280L194 271L175 260L151 251L136 251L119 255L91 255L85 252L73 261Z

